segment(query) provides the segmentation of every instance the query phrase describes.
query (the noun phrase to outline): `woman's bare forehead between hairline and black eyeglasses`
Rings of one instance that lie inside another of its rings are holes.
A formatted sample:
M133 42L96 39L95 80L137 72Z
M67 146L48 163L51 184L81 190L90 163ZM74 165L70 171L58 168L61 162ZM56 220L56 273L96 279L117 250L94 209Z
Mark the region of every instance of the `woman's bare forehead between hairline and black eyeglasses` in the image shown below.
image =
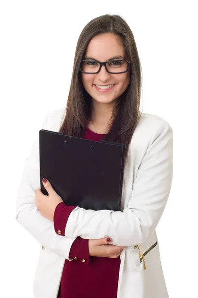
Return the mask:
M85 55L99 61L105 61L114 56L125 57L125 48L119 36L105 33L92 38Z

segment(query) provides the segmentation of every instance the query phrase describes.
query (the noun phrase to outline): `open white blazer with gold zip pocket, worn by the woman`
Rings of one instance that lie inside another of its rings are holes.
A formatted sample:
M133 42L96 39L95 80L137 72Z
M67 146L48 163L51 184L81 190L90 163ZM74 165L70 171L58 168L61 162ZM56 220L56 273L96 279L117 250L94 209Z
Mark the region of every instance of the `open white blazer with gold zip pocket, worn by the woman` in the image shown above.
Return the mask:
M41 129L58 132L65 111L49 112ZM17 222L41 244L34 297L57 297L65 259L73 261L69 251L76 237L109 236L112 244L126 246L120 255L117 298L168 298L155 228L169 197L172 176L172 128L164 119L143 113L124 169L122 211L76 207L69 216L65 236L61 236L35 204L35 189L40 188L38 133L25 161L16 203ZM139 250L141 255L146 253L145 262L141 262Z

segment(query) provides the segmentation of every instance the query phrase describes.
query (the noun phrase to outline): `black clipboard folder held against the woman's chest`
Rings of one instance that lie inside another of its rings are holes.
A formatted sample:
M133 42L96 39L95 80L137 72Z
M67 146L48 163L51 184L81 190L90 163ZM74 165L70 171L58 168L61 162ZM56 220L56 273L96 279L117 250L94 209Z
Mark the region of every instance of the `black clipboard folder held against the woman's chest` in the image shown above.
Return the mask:
M45 177L66 205L118 211L125 145L40 130L40 183Z

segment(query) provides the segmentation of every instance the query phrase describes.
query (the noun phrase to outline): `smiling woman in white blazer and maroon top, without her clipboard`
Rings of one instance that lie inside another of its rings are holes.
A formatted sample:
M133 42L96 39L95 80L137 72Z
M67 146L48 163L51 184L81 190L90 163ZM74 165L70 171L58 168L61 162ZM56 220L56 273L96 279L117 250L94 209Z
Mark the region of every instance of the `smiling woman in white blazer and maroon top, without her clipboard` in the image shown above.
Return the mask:
M125 144L122 202L118 212L67 206L46 177L45 196L35 141L16 210L41 243L35 298L168 298L155 228L171 189L173 135L165 120L140 113L140 97L131 29L119 15L93 19L77 43L67 108L42 128Z

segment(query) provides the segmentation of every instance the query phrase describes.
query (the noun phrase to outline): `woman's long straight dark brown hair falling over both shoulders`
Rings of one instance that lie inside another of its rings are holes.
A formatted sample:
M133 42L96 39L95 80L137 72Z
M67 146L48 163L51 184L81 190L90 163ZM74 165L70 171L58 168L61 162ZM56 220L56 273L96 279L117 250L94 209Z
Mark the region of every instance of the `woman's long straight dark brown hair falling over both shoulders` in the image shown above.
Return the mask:
M85 90L80 63L84 60L90 40L104 33L121 37L129 61L131 61L130 82L117 100L112 121L105 140L125 144L125 161L129 144L138 124L140 114L142 68L133 33L126 21L119 15L104 14L91 20L81 32L74 57L71 85L67 100L66 115L59 129L64 135L82 138L91 117L91 96Z

